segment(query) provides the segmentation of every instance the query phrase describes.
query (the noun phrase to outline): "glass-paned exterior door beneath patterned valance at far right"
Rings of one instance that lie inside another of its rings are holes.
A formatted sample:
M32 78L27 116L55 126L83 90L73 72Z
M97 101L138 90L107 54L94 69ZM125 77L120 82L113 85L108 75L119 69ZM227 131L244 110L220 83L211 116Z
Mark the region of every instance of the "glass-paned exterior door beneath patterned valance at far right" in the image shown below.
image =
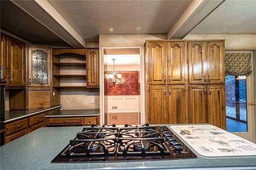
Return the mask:
M251 53L251 63L253 63L252 51L226 51L226 53ZM253 72L249 76L226 76L226 127L227 131L255 142L253 77Z

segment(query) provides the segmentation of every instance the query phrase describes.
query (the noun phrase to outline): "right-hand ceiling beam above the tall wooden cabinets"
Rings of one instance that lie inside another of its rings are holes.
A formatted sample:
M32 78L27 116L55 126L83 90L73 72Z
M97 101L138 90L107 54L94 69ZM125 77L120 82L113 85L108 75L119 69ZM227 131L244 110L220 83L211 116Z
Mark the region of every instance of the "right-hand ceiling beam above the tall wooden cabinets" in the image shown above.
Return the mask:
M193 0L167 34L168 39L182 39L225 0Z

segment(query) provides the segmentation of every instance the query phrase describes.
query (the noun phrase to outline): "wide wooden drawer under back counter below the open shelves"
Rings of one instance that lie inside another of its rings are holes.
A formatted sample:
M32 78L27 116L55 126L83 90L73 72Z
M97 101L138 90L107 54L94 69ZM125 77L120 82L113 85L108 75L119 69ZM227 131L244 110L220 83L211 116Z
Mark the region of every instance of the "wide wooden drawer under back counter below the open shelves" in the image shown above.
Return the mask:
M66 125L66 124L81 124L82 125L82 118L48 118L47 123L49 125Z

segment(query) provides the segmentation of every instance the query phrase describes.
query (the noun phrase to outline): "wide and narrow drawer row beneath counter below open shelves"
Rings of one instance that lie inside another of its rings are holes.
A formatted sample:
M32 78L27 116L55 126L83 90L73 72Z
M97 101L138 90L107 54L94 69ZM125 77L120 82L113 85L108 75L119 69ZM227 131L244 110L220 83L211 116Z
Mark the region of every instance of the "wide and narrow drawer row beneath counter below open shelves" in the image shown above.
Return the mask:
M99 125L98 116L90 117L47 117L45 118L46 126L84 126L84 125Z

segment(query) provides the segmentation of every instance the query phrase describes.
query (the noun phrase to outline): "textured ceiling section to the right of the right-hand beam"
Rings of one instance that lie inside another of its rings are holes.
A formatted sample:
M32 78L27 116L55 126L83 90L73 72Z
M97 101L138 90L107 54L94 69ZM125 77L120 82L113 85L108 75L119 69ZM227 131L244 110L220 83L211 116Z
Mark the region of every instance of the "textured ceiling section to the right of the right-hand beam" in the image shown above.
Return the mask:
M226 0L190 33L256 33L256 0Z

